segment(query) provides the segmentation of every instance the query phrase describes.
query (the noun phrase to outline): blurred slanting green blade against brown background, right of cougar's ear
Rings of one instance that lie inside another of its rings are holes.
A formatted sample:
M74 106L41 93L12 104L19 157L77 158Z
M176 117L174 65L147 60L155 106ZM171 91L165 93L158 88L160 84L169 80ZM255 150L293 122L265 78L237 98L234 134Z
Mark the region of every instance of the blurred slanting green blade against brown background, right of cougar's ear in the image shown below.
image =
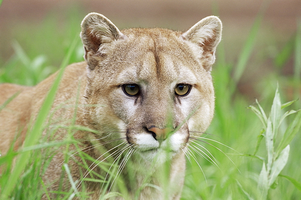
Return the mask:
M247 41L243 47L243 49L241 50L240 56L238 58L238 62L233 74L233 79L234 82L237 83L240 80L241 75L243 74L246 66L247 66L247 62L251 56L254 44L255 44L255 39L256 39L256 35L258 33L261 21L263 18L263 12L259 12L259 14L257 15L253 26L251 28L250 34L247 38Z

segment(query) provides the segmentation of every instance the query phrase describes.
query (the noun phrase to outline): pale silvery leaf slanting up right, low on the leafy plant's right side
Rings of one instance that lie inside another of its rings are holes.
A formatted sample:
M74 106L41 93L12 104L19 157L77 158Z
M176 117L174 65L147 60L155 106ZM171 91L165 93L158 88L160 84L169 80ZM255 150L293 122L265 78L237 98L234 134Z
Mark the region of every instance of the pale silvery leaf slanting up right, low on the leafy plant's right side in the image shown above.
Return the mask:
M272 186L272 184L275 182L276 178L284 168L284 166L287 163L288 156L290 153L290 145L287 145L284 150L281 151L279 154L278 158L273 162L272 168L271 168L271 173L270 173L270 178L268 181L268 185Z

